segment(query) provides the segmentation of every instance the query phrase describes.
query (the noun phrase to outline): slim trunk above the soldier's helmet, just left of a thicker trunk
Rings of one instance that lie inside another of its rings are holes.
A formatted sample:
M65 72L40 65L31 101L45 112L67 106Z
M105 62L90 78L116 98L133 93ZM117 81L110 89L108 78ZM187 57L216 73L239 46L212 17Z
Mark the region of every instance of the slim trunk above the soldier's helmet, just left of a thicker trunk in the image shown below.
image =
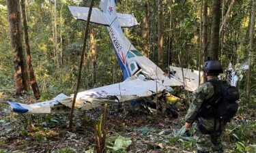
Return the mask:
M208 48L207 48L207 41L208 41L208 7L207 7L207 1L208 0L202 0L203 1L203 30L202 30L202 45L201 45L201 52L203 52L203 62L207 60L208 56Z

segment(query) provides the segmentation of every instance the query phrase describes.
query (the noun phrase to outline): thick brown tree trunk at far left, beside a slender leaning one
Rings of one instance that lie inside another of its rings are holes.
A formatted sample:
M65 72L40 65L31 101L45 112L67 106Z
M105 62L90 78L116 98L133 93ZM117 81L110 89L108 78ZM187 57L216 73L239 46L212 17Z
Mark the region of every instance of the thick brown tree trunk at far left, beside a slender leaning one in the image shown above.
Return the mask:
M21 95L23 94L24 90L29 89L29 86L26 84L27 69L25 66L21 37L20 1L6 0L6 4L8 8L9 33L14 62L16 95Z

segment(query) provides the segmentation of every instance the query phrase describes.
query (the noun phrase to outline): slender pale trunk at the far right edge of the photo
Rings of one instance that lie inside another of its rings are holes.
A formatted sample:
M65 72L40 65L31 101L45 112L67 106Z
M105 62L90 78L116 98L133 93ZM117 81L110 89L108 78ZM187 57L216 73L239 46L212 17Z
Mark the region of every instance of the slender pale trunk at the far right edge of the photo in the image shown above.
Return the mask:
M248 103L251 103L251 67L252 67L252 56L253 56L253 39L255 33L255 1L252 0L253 6L251 10L251 27L250 27L250 44L249 44L249 54L248 54L248 75L247 75L247 84L246 84L246 95L248 97Z

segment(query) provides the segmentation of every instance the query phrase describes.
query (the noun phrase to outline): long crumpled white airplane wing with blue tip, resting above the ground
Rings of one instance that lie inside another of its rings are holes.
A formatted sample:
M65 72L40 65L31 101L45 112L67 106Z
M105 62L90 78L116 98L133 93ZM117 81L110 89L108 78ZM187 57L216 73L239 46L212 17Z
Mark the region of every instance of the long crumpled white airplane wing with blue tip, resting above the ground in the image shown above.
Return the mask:
M140 75L139 78L128 78L124 82L79 92L76 97L75 109L89 110L100 107L104 103L143 99L155 95L156 92L162 92L164 89L165 86L160 82L146 80ZM20 114L55 114L70 109L72 97L61 94L51 101L41 103L29 105L17 102L8 103L13 112Z

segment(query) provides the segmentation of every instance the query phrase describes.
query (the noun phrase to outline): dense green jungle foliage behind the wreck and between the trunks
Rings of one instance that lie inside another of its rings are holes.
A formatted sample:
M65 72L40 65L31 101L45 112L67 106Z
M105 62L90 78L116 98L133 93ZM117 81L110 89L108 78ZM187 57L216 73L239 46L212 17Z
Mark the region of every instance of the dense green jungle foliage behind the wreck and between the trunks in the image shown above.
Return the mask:
M158 63L158 5L157 1L148 0L124 0L117 4L117 11L134 14L140 23L139 26L124 29L124 33L132 44L144 55L147 55L154 63ZM94 6L98 7L99 0ZM167 71L168 65L177 65L189 69L200 69L205 53L201 51L201 1L199 0L163 0L163 67ZM224 15L232 1L225 1ZM228 14L227 22L223 28L223 37L220 39L219 60L223 67L232 63L244 63L248 59L251 0L237 0L233 3ZM68 5L89 5L87 1L57 0L57 46L55 50L54 31L54 1L51 0L27 0L27 25L29 31L29 44L35 78L40 88L40 101L52 99L63 92L70 95L74 92L78 71L78 61L83 46L83 32L85 22L74 20ZM210 52L210 24L212 2L208 1L208 41L207 48ZM8 29L8 10L6 2L0 0L0 99L8 101L14 90L14 69L10 35ZM147 21L145 21L147 19ZM146 22L148 22L147 25ZM145 26L148 29L145 29ZM86 90L106 84L122 81L122 71L113 48L106 33L106 28L97 24L90 24L90 31L94 29L94 41L96 41L96 83L93 80L93 63L91 63L91 41L86 48L85 62L80 90ZM147 37L145 39L145 33ZM255 35L254 35L255 37ZM223 43L221 43L223 41ZM255 41L254 41L255 42ZM223 45L222 45L223 44ZM255 48L255 43L254 43ZM62 53L61 53L62 52ZM63 56L61 57L60 54ZM255 57L255 49L252 52ZM61 62L62 61L62 62ZM228 134L225 140L230 144L229 149L235 146L233 152L253 152L255 148L255 108L256 104L256 65L253 63L251 73L251 103L246 103L246 73L239 82L240 116L238 121L229 124ZM25 93L29 99L32 91ZM34 99L31 101L35 101ZM0 108L5 105L0 104ZM47 117L47 116L46 116ZM59 116L57 116L59 117ZM38 119L39 120L39 119ZM40 122L40 121L36 122ZM50 120L46 118L46 120ZM60 120L60 119L59 119ZM148 119L151 120L151 119ZM153 119L152 119L153 120ZM49 121L53 122L53 121ZM62 122L62 121L59 121ZM59 123L61 124L61 123ZM64 122L64 121L63 121ZM177 122L184 122L180 119ZM1 119L0 119L1 123ZM42 122L41 122L42 123ZM122 122L119 122L122 124ZM127 121L126 121L126 124ZM169 123L170 124L170 123ZM154 124L155 125L155 124ZM156 124L158 125L158 124ZM179 125L179 124L178 124ZM178 127L177 125L175 127ZM27 128L23 127L24 129ZM41 127L42 128L42 127ZM124 129L124 128L123 128ZM40 131L38 128L35 131ZM122 131L122 130L120 130ZM127 131L126 131L127 132ZM20 133L18 133L20 134ZM28 135L28 133L26 134ZM1 135L0 135L1 137ZM33 137L35 137L33 135ZM253 138L254 137L254 138ZM37 138L36 138L37 139ZM39 140L42 139L40 136ZM169 139L167 144L175 143L175 139ZM1 145L4 143L0 139ZM159 142L160 143L160 142ZM177 143L175 143L177 146ZM251 145L251 146L250 146ZM186 143L183 148L193 150L193 142ZM154 144L153 148L156 148ZM87 150L89 148L86 148ZM165 148L166 149L166 148ZM68 152L68 148L59 152ZM148 150L152 150L149 148ZM168 150L168 149L166 149ZM166 151L165 150L165 151ZM145 151L145 150L144 150ZM179 152L182 149L178 148ZM70 151L71 152L71 151Z

